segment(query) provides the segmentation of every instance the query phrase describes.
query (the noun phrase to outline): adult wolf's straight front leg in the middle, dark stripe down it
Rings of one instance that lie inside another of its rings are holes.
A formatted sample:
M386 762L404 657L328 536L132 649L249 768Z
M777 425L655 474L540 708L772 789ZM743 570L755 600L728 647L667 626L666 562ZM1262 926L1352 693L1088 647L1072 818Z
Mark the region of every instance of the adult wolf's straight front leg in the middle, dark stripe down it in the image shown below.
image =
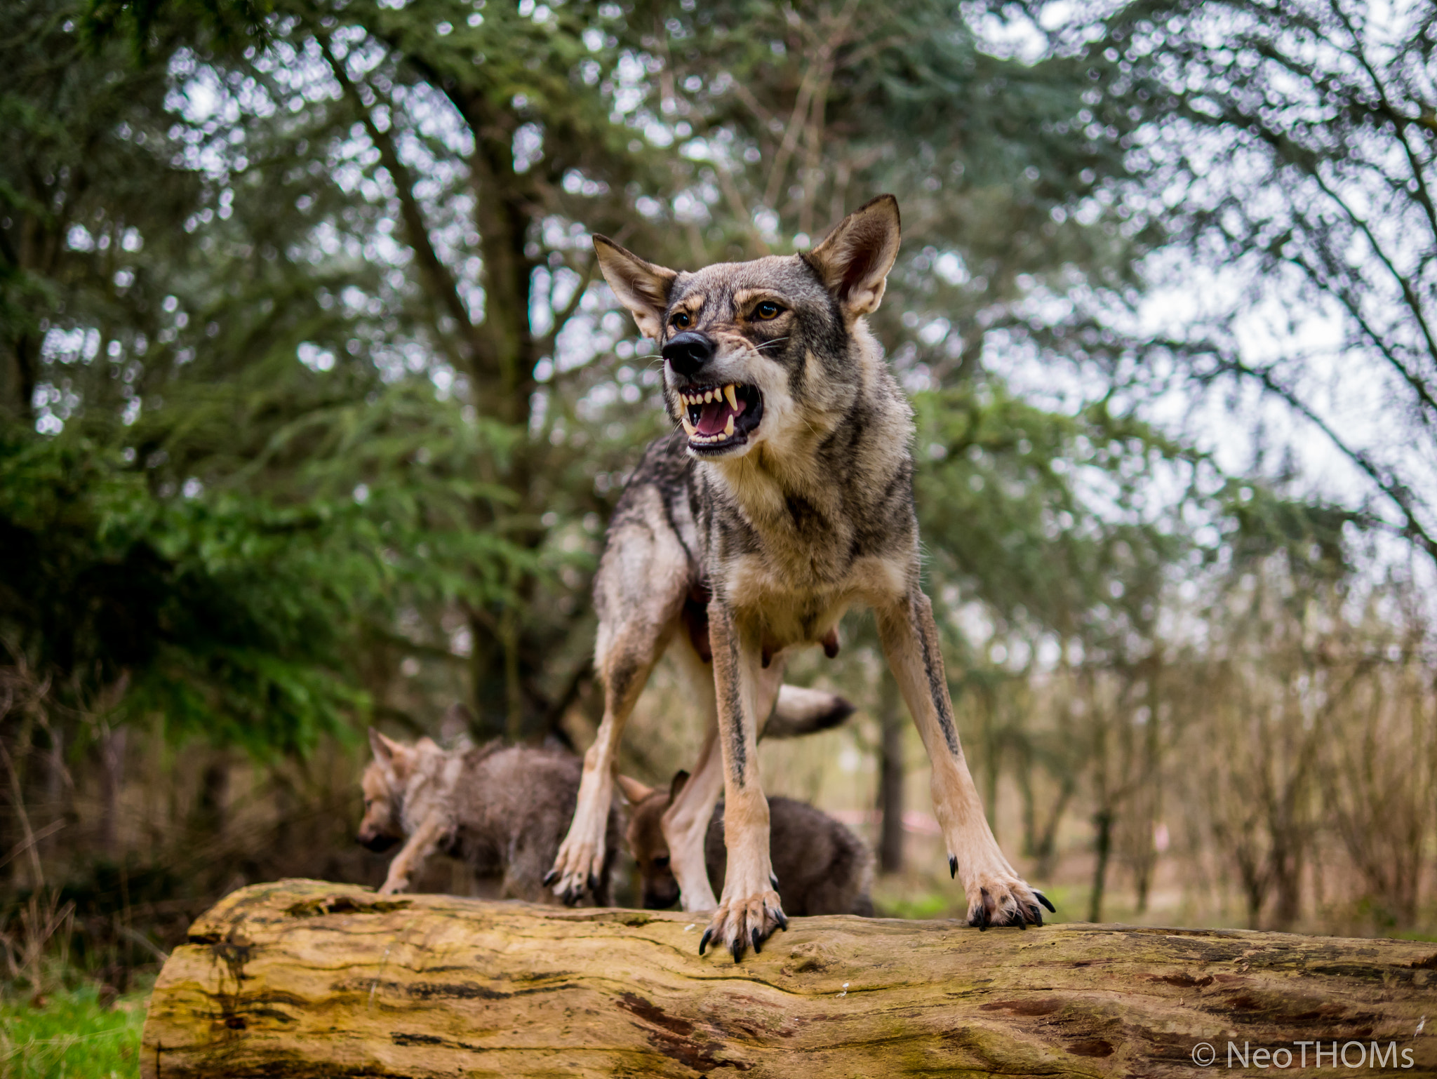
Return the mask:
M733 612L721 601L708 605L708 635L714 652L714 690L718 697L718 744L724 770L724 843L729 869L723 898L698 943L710 941L743 958L749 945L759 951L777 928L787 928L769 862L769 800L759 784L759 731L756 717L759 648L740 642Z

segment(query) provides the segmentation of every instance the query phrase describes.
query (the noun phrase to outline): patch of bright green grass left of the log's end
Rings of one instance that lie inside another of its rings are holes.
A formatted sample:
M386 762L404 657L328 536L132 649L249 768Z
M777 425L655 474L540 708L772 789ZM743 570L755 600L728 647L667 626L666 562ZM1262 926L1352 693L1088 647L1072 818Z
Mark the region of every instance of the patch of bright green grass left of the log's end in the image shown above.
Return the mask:
M132 1079L149 988L109 1007L95 986L60 990L43 1007L0 999L3 1079Z

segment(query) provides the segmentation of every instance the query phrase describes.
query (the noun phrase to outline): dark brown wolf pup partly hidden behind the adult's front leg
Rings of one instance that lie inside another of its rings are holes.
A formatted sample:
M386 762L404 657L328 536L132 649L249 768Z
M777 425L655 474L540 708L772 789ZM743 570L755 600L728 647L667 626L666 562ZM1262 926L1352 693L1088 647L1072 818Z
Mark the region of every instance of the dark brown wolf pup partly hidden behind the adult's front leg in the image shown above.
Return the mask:
M678 881L670 869L662 818L688 782L688 773L675 774L668 790L655 790L622 774L616 782L629 802L624 838L638 862L644 905L658 911L673 907L678 899ZM726 853L720 805L704 836L704 863L716 888L723 888ZM874 886L874 856L858 836L826 813L790 797L770 797L769 856L779 878L785 914L874 915L874 901L868 895Z

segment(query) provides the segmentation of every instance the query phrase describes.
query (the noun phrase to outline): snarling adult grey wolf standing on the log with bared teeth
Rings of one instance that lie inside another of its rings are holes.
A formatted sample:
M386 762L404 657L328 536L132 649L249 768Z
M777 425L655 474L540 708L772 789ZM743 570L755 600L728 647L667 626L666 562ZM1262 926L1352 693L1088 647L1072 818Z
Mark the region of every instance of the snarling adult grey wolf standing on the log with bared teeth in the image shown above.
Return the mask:
M645 451L605 536L593 583L604 721L549 879L575 898L605 863L619 736L660 654L677 642L707 733L662 828L684 909L713 909L700 954L717 941L737 961L787 921L772 881L759 731L787 651L818 644L832 657L855 603L874 609L928 750L970 924L1036 925L1039 902L1052 909L1009 865L983 815L918 583L912 409L864 320L882 299L898 240L892 195L844 218L812 251L697 273L593 237L609 287L660 345L664 401L683 430ZM680 632L700 621L701 638ZM729 871L716 902L704 835L720 787Z

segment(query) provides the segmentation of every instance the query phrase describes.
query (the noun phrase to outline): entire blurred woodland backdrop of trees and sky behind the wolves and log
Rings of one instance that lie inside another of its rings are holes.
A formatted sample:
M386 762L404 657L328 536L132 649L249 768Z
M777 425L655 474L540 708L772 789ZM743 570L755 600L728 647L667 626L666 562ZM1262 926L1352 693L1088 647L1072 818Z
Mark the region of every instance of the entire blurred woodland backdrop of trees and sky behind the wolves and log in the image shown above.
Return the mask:
M375 879L368 723L582 749L599 537L667 425L589 237L792 253L892 191L874 322L1000 839L1066 917L1430 924L1414 10L6 7L0 888L62 886L118 978L240 882ZM846 632L795 677L862 711L764 747L775 793L946 912ZM651 782L696 736L655 681Z

